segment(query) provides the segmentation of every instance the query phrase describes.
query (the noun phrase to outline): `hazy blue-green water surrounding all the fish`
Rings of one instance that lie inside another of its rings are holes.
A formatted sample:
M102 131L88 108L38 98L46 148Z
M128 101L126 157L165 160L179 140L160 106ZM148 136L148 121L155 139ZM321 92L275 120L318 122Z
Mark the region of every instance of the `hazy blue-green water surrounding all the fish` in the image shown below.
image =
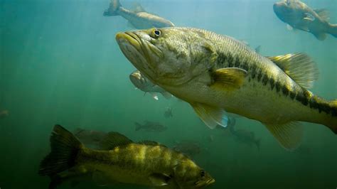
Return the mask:
M129 8L134 1L121 1ZM319 80L311 89L337 98L337 39L318 41L311 33L288 31L275 1L137 1L176 26L204 28L261 45L262 55L302 52L313 58ZM336 0L307 0L326 8L337 23ZM0 1L0 188L48 188L38 175L48 152L50 131L61 124L73 131L119 131L134 141L173 146L192 140L201 151L193 159L215 178L208 188L337 188L337 137L326 126L304 123L299 150L287 151L260 124L238 118L236 126L255 133L260 148L235 141L228 131L208 129L186 103L135 90L135 70L114 39L132 30L121 16L104 17L108 0ZM164 117L171 107L173 117ZM267 114L267 112L266 112ZM157 121L164 132L135 131L134 122ZM211 138L211 140L210 140ZM107 188L144 188L109 185ZM71 188L68 184L60 188ZM102 188L90 180L75 188Z

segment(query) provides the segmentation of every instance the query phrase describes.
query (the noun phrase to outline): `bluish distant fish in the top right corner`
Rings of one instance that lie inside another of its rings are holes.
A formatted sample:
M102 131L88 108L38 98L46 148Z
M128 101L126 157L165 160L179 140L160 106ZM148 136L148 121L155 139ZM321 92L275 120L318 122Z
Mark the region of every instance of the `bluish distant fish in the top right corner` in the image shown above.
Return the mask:
M326 9L311 9L299 0L285 0L274 4L274 12L280 20L288 23L287 28L307 31L323 41L326 33L337 38L337 24L328 23L329 12Z

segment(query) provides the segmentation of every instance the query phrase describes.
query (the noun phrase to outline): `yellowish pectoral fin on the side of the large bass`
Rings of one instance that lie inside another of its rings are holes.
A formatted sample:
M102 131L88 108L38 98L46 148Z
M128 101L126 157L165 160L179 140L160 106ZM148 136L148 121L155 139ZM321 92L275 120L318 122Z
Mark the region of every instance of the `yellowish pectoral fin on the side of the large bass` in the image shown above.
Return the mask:
M213 73L213 85L235 90L241 87L246 76L247 71L241 68L220 68Z

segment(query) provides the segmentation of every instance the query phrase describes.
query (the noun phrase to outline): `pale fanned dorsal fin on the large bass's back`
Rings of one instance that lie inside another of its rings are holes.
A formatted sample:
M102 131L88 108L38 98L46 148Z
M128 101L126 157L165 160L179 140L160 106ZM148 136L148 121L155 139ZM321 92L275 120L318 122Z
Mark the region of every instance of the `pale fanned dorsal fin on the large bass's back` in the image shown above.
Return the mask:
M319 71L311 58L304 53L268 57L281 68L291 79L306 89L314 85L319 77Z

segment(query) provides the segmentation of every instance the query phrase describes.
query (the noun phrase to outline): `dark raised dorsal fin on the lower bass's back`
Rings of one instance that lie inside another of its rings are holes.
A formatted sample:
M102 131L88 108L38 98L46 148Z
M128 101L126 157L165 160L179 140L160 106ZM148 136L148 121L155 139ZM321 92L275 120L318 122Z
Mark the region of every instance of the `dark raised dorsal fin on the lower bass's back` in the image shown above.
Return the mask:
M102 150L112 150L117 146L132 144L133 141L118 132L109 132L107 136L100 142L99 146Z

